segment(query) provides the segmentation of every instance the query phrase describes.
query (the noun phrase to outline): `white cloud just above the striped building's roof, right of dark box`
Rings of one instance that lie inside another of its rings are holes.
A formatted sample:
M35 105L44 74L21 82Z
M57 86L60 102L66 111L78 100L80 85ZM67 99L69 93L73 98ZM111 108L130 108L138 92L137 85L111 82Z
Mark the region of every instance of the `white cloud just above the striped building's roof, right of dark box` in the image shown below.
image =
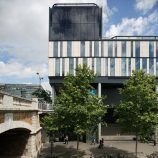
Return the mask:
M158 27L157 11L147 17L123 18L121 23L111 25L106 37L127 35L153 35Z

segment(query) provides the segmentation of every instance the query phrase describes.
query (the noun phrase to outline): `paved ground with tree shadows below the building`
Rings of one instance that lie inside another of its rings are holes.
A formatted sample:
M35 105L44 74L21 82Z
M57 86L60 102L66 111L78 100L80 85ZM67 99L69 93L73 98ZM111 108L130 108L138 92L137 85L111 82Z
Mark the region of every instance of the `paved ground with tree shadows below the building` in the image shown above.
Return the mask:
M104 154L126 154L128 158L134 158L135 141L104 141L104 148L98 149L98 144L90 145L88 143L79 144L80 158L90 158L95 155L94 158L104 158ZM158 151L158 145L153 144L138 144L138 157L146 158L155 151ZM39 158L50 158L51 156L50 144L46 143L43 146L43 150ZM56 158L75 158L77 154L76 141L69 142L69 144L63 144L63 142L56 142L53 145L52 157Z

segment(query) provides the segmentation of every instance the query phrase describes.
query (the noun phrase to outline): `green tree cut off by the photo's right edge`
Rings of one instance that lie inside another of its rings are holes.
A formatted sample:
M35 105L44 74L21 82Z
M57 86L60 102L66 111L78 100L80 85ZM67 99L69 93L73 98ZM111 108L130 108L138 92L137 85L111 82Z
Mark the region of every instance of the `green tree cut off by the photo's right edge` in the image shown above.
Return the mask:
M149 137L158 124L158 101L155 92L156 81L142 70L133 71L132 76L120 89L121 103L116 106L118 122L124 130L136 135L136 156L138 136Z

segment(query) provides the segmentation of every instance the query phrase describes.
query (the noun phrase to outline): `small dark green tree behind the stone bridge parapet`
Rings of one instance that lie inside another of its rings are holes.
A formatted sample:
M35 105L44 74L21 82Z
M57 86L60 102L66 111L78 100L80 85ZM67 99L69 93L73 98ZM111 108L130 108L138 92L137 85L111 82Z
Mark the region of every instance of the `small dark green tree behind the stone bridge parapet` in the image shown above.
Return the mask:
M35 92L32 93L38 98L43 98L47 103L52 103L50 91L45 91L43 88L38 88Z

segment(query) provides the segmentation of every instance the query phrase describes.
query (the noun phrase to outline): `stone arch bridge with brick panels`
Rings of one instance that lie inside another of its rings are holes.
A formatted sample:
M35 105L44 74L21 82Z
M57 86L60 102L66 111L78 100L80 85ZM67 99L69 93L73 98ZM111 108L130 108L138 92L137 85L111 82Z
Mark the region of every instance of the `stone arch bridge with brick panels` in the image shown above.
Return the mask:
M39 113L45 104L0 91L0 156L36 158L42 147ZM50 108L44 106L44 111Z

